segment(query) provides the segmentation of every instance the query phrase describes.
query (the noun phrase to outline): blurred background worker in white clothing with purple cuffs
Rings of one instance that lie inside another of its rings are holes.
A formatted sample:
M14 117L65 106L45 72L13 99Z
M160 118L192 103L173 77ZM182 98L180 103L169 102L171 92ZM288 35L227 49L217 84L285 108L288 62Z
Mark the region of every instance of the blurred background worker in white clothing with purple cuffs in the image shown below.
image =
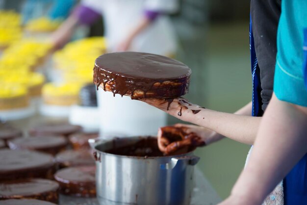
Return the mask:
M178 10L177 0L83 0L53 33L54 47L67 43L77 25L103 16L107 51L140 51L172 56L176 35L164 14Z

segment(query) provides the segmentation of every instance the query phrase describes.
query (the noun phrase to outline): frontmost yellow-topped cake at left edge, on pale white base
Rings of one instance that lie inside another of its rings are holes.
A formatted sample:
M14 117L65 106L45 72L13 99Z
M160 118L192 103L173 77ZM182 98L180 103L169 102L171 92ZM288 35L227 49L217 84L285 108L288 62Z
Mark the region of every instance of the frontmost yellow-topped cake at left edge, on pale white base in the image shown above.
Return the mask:
M27 89L16 83L0 82L0 110L25 108L29 105Z

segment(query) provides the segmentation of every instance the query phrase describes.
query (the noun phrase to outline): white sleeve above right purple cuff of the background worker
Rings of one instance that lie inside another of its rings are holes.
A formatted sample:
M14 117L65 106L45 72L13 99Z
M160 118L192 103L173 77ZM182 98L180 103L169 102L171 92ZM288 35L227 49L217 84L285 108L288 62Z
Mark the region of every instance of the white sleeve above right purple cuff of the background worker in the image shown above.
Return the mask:
M178 0L145 0L145 10L175 13L179 10Z

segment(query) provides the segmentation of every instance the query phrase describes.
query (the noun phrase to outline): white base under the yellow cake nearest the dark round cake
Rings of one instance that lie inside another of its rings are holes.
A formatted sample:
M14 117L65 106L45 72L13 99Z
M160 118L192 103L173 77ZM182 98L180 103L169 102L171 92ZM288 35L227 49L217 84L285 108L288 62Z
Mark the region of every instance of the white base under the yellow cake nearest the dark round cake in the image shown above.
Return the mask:
M70 110L71 106L42 104L40 107L40 113L48 117L67 118L69 116Z

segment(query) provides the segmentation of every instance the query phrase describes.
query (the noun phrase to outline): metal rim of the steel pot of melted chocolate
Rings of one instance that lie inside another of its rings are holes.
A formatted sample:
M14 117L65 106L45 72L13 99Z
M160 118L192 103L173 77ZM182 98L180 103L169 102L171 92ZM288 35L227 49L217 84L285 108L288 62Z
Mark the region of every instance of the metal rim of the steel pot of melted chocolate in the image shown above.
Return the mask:
M155 136L132 136L132 137L120 137L120 138L144 138L144 137L153 137L153 138L157 138ZM114 139L118 139L118 137L113 137L113 138L109 138L109 139L102 139L102 138L96 138L96 139L89 139L89 143L91 145L91 147L93 148L93 150L95 152L98 152L100 154L104 154L104 155L109 155L109 156L116 156L116 157L123 157L123 158L133 158L133 159L164 159L164 158L173 158L173 157L182 157L185 156L187 154L193 154L193 152L196 150L196 148L194 148L193 150L187 152L187 153L183 153L183 154L176 154L176 155L167 155L167 156L127 156L127 155L119 155L119 154L110 154L110 153L106 153L103 151L100 151L98 149L96 149L96 147L98 145L101 145L102 143L106 143L106 142L110 142ZM93 140L93 141L92 141ZM94 142L95 141L95 142Z

